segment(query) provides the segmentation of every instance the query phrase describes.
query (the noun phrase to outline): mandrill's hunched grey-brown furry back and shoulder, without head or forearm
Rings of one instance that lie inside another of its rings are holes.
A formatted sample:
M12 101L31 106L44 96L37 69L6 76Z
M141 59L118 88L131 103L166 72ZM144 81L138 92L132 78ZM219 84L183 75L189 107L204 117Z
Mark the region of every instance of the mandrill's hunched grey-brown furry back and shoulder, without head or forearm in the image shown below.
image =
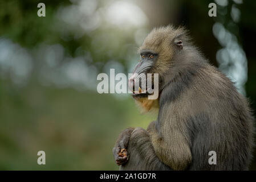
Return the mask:
M200 60L200 56L196 57ZM185 67L162 90L159 133L171 134L170 128L180 127L192 155L187 169L247 170L254 142L254 118L246 98L212 65L195 61ZM172 117L166 118L166 113ZM216 151L216 165L209 164L209 151Z

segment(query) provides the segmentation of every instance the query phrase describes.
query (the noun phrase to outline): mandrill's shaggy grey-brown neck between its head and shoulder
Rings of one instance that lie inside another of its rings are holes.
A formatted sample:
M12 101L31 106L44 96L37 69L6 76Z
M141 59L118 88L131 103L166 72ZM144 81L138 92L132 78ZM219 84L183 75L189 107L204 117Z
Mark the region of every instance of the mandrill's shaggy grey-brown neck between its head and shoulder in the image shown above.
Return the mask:
M200 75L202 69L209 67L208 61L193 47L184 47L173 55L172 67L160 76L159 95L167 89L170 100L177 97L193 82L194 77ZM161 104L161 103L160 103Z

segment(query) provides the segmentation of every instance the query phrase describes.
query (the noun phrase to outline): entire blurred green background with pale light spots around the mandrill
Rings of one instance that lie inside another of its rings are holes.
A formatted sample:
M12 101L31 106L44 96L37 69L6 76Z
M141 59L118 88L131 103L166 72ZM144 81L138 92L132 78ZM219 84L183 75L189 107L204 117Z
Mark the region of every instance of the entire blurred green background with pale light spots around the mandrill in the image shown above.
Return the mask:
M145 36L169 23L187 27L256 110L255 10L253 0L1 0L0 169L118 169L117 135L156 114L142 115L128 94L97 93L97 74L131 73Z

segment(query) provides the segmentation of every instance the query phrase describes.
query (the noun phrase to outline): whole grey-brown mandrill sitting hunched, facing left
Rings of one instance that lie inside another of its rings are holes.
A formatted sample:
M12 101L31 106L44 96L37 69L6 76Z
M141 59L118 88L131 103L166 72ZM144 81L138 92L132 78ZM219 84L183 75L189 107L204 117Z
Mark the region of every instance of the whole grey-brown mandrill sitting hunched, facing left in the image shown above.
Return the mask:
M120 133L113 148L120 170L247 170L254 142L247 99L193 46L185 28L153 29L139 53L133 73L158 73L159 97L132 96L159 113L147 130ZM129 82L140 81L132 76Z

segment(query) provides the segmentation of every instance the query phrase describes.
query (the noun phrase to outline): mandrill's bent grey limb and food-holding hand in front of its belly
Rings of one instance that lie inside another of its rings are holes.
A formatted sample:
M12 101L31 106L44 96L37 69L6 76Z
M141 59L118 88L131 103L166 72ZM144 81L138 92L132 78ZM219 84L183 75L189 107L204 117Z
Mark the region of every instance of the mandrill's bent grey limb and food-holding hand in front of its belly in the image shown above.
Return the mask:
M122 148L127 156L120 156ZM171 170L155 154L148 132L140 127L125 129L117 139L113 155L120 170Z

